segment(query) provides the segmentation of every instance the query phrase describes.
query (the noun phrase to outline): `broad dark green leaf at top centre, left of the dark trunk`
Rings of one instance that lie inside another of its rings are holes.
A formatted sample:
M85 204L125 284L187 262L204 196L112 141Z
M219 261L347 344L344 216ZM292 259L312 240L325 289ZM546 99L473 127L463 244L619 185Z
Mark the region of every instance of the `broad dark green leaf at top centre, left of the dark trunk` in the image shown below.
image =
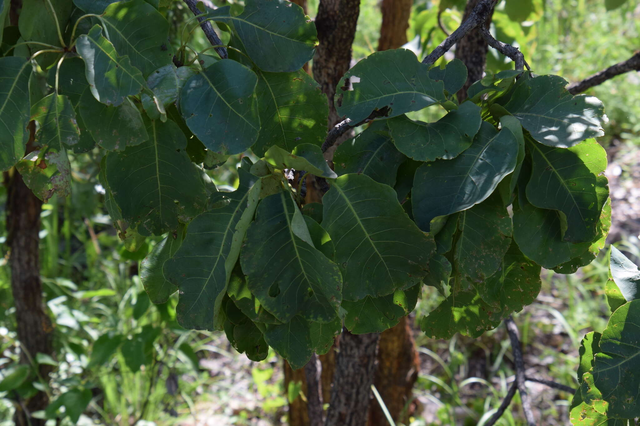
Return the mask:
M300 70L316 52L316 26L297 4L285 0L246 0L243 13L230 6L209 11L207 18L230 24L244 50L260 70Z

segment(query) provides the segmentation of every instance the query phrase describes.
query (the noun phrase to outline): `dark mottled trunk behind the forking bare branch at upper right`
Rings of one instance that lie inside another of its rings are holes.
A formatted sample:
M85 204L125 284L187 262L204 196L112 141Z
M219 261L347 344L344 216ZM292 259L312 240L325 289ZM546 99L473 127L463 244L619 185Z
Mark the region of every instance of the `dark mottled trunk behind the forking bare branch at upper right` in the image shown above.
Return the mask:
M472 10L476 7L478 0L468 0L463 22L466 20ZM493 14L493 11L492 11ZM486 20L486 27L491 24L492 14ZM477 29L472 29L460 42L456 45L456 58L460 59L467 65L467 82L465 86L458 91L458 102L467 98L467 90L471 84L482 78L484 66L486 65L486 52L489 46L484 41Z

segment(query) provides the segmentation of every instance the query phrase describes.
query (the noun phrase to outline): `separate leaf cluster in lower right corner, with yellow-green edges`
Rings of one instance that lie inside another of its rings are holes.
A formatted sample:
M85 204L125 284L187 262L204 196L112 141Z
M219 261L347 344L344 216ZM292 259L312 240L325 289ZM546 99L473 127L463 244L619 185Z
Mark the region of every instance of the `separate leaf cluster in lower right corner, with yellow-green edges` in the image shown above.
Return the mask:
M573 425L635 425L640 417L640 270L611 246L610 278L605 287L609 324L591 331L580 344Z

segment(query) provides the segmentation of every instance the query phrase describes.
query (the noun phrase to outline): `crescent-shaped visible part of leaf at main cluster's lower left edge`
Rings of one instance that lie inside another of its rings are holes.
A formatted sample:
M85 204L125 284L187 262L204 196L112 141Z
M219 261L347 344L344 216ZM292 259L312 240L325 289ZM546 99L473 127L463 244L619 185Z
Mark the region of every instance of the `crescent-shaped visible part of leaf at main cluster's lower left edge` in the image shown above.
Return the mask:
M184 225L179 225L177 231L168 234L160 241L140 262L140 281L149 295L149 299L156 304L164 303L177 291L164 277L163 265L177 252L184 238Z

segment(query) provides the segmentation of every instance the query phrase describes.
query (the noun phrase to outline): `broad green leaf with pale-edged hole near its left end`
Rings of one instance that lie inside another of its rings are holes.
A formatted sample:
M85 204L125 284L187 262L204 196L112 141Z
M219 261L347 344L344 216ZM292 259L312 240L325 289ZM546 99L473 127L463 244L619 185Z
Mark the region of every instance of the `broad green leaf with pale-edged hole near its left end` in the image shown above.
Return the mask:
M343 89L349 81L353 90ZM443 82L429 79L429 66L407 49L384 50L362 59L340 79L335 94L338 115L354 123L386 106L391 118L445 101Z

